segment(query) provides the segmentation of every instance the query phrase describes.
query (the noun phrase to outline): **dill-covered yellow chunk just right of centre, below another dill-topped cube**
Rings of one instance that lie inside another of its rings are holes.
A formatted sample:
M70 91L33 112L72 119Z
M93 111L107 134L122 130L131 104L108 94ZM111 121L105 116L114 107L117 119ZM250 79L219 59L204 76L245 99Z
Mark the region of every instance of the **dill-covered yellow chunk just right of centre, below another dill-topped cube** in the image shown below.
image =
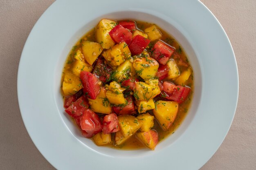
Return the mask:
M148 83L136 82L135 89L133 90L133 96L136 100L148 101L159 95L161 91L158 86L158 79L154 81L150 80Z

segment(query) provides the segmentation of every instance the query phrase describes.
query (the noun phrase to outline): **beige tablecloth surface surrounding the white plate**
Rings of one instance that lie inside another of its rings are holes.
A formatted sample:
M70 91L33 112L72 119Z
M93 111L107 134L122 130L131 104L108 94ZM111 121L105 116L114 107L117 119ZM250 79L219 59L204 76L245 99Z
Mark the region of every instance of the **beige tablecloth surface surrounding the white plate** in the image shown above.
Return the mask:
M0 0L0 170L54 169L25 129L16 85L20 54L27 36L52 2ZM256 170L256 0L202 2L218 18L231 41L240 87L229 133L200 170Z

